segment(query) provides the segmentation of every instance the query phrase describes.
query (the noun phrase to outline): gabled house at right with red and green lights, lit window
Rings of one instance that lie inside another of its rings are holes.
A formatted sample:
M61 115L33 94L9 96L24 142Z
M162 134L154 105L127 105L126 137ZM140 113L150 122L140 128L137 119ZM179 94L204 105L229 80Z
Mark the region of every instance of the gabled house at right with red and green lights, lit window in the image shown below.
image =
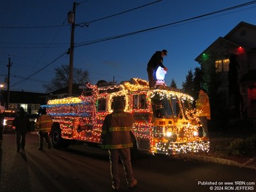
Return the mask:
M256 26L240 22L226 36L217 38L196 59L203 84L210 87L210 71L218 79L216 92L236 117L256 117Z

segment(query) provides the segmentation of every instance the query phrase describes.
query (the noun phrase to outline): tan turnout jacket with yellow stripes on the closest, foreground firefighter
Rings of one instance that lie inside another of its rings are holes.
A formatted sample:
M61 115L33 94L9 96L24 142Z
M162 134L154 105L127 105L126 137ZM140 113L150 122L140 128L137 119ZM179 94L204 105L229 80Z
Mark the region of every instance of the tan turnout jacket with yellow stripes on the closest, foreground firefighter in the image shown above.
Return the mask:
M132 148L130 130L133 123L133 116L123 110L107 115L102 125L102 149Z

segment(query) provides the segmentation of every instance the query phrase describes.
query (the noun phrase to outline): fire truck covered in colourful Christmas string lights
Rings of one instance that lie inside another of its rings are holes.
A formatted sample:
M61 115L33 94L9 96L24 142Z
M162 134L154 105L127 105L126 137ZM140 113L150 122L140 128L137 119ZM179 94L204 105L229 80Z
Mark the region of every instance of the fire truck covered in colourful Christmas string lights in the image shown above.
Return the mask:
M146 80L138 78L87 84L81 96L49 100L42 107L53 118L53 146L68 147L71 141L100 146L104 118L119 99L135 119L132 150L168 155L208 152L210 141L202 135L193 98L168 86L149 88Z

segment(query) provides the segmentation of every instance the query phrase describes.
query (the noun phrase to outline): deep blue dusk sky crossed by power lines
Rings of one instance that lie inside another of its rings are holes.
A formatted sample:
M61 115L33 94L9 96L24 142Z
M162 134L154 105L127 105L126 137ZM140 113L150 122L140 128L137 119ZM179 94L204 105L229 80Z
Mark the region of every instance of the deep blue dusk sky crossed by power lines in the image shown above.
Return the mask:
M1 0L0 82L7 77L10 58L10 90L45 92L42 84L51 82L54 69L69 65L67 13L73 2ZM200 67L195 58L212 42L239 22L256 25L256 1L76 2L73 65L88 70L92 84L101 79L111 82L113 77L117 83L132 77L148 80L150 57L166 49L165 82L170 86L174 79L182 88L187 72Z

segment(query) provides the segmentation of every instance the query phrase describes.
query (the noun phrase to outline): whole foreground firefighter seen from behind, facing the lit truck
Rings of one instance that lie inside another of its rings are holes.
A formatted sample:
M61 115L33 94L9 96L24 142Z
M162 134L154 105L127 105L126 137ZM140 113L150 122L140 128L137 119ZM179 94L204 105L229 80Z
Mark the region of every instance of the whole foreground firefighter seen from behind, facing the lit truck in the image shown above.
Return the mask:
M120 185L119 156L123 163L128 187L133 188L137 185L137 180L133 177L130 154L130 148L133 147L130 135L133 123L133 116L124 112L123 101L117 100L113 113L105 117L102 125L102 149L108 150L114 190L118 190Z

